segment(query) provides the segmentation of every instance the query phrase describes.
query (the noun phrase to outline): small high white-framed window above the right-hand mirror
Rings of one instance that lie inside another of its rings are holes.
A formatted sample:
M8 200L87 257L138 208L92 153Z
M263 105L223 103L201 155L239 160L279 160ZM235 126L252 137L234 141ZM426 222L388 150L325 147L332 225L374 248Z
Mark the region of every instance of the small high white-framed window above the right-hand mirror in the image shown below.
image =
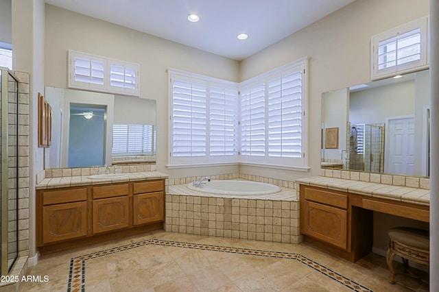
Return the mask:
M427 16L372 37L372 80L428 68Z

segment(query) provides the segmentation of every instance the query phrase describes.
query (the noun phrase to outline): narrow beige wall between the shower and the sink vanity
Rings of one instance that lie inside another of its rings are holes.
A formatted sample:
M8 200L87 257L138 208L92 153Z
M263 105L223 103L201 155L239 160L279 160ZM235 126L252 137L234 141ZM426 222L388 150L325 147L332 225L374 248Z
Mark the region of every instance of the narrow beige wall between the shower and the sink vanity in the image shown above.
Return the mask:
M19 184L29 186L29 190L19 194L29 198L29 229L21 230L29 236L29 263L33 265L36 255L35 245L35 175L43 170L43 148L38 148L38 93L44 93L44 0L12 1L12 66L14 71L29 73L29 178ZM19 96L20 98L20 96Z

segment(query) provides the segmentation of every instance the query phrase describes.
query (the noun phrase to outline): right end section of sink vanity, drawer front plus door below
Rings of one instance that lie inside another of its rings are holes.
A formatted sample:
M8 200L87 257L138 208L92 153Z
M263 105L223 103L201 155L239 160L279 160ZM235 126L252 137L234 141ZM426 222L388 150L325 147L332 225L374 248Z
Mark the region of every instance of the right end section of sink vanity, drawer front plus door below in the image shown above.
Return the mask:
M133 224L165 221L165 186L163 181L134 183Z

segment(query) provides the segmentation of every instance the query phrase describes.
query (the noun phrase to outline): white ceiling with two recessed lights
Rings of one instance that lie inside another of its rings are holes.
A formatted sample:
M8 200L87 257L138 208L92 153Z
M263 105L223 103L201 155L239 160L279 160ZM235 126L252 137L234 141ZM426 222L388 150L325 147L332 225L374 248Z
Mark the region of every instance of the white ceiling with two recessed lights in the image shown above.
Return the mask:
M354 0L45 0L183 45L243 60ZM196 13L198 23L187 21ZM237 40L241 33L247 40Z

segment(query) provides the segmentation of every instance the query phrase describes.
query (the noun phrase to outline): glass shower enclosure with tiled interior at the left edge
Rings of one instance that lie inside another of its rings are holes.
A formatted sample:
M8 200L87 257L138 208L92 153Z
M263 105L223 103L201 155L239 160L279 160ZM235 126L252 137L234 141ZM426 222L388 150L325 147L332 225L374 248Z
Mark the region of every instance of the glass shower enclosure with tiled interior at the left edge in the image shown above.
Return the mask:
M18 80L0 68L0 269L8 275L19 256Z

